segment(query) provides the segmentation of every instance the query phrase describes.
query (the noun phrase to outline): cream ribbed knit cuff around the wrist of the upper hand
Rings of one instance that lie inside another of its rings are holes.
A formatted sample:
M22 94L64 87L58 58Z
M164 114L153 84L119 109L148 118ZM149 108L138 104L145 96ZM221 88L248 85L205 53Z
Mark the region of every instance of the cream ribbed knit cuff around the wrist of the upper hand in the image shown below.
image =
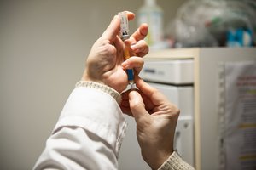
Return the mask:
M119 104L121 102L121 94L117 92L115 89L108 87L102 83L98 82L89 82L89 81L79 81L76 83L76 88L84 87L84 88L94 88L97 90L101 90L102 92L109 94L117 101Z

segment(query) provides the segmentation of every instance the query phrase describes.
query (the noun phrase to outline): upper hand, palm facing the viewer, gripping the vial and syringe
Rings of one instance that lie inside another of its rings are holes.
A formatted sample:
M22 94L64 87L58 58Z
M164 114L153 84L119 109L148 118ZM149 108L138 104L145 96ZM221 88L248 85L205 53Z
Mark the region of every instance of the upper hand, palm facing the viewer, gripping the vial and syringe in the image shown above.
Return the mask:
M128 20L132 20L135 15L127 12L127 16ZM123 65L125 43L119 37L119 29L120 19L116 15L102 37L92 46L82 80L106 84L120 93L128 84L125 69L134 67L138 73L143 66L141 57L148 54L148 45L143 41L148 34L148 26L143 24L131 35L128 41L132 53L137 57L127 59Z

